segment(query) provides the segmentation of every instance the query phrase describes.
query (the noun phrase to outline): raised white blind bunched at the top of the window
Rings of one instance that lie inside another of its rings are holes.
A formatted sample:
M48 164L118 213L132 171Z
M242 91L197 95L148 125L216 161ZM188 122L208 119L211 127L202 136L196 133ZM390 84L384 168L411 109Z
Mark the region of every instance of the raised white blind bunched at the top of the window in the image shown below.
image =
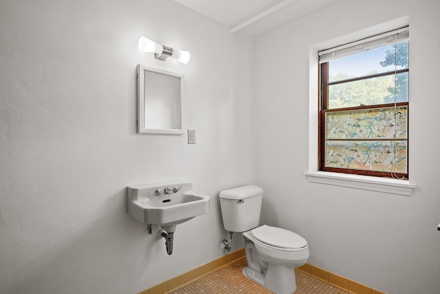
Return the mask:
M393 45L395 43L401 43L408 41L410 36L409 27L400 28L391 32L383 34L377 34L368 38L340 45L335 48L322 50L318 52L319 63L325 63L334 59L340 59L345 56L357 54L367 50L373 50L386 45Z

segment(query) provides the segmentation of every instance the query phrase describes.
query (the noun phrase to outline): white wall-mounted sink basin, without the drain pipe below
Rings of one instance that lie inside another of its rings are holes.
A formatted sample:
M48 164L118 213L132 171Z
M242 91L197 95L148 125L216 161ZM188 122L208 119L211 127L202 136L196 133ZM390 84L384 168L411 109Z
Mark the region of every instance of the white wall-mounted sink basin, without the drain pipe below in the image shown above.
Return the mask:
M165 192L166 188L170 189L169 193ZM156 191L162 193L157 195ZM144 224L158 224L173 230L175 225L208 211L209 197L192 191L191 182L163 182L127 187L127 212Z

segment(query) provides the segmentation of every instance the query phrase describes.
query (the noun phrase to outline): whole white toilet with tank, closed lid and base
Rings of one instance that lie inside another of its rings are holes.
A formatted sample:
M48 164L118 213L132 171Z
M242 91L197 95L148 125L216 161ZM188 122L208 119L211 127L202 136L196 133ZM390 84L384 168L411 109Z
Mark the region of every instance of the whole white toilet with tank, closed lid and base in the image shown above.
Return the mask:
M243 275L275 292L296 290L294 268L309 258L307 241L292 231L259 226L263 189L247 185L220 192L221 215L227 231L241 232L245 238L248 266Z

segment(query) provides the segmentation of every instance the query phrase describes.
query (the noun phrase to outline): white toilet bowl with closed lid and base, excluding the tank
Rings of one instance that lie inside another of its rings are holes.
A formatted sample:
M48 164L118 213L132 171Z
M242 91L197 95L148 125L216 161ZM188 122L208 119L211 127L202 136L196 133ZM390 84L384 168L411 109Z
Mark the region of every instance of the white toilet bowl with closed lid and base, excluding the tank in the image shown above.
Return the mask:
M263 225L243 232L248 266L243 275L277 294L296 290L294 268L309 258L309 246L300 235Z

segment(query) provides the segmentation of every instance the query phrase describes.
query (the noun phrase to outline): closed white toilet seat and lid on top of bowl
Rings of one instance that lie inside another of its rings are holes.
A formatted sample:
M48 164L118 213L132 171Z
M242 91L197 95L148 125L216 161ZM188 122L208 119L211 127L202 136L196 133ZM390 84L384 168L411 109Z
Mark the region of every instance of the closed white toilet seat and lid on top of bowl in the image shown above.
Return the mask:
M251 230L254 240L275 250L300 251L307 246L307 241L292 231L264 224Z

